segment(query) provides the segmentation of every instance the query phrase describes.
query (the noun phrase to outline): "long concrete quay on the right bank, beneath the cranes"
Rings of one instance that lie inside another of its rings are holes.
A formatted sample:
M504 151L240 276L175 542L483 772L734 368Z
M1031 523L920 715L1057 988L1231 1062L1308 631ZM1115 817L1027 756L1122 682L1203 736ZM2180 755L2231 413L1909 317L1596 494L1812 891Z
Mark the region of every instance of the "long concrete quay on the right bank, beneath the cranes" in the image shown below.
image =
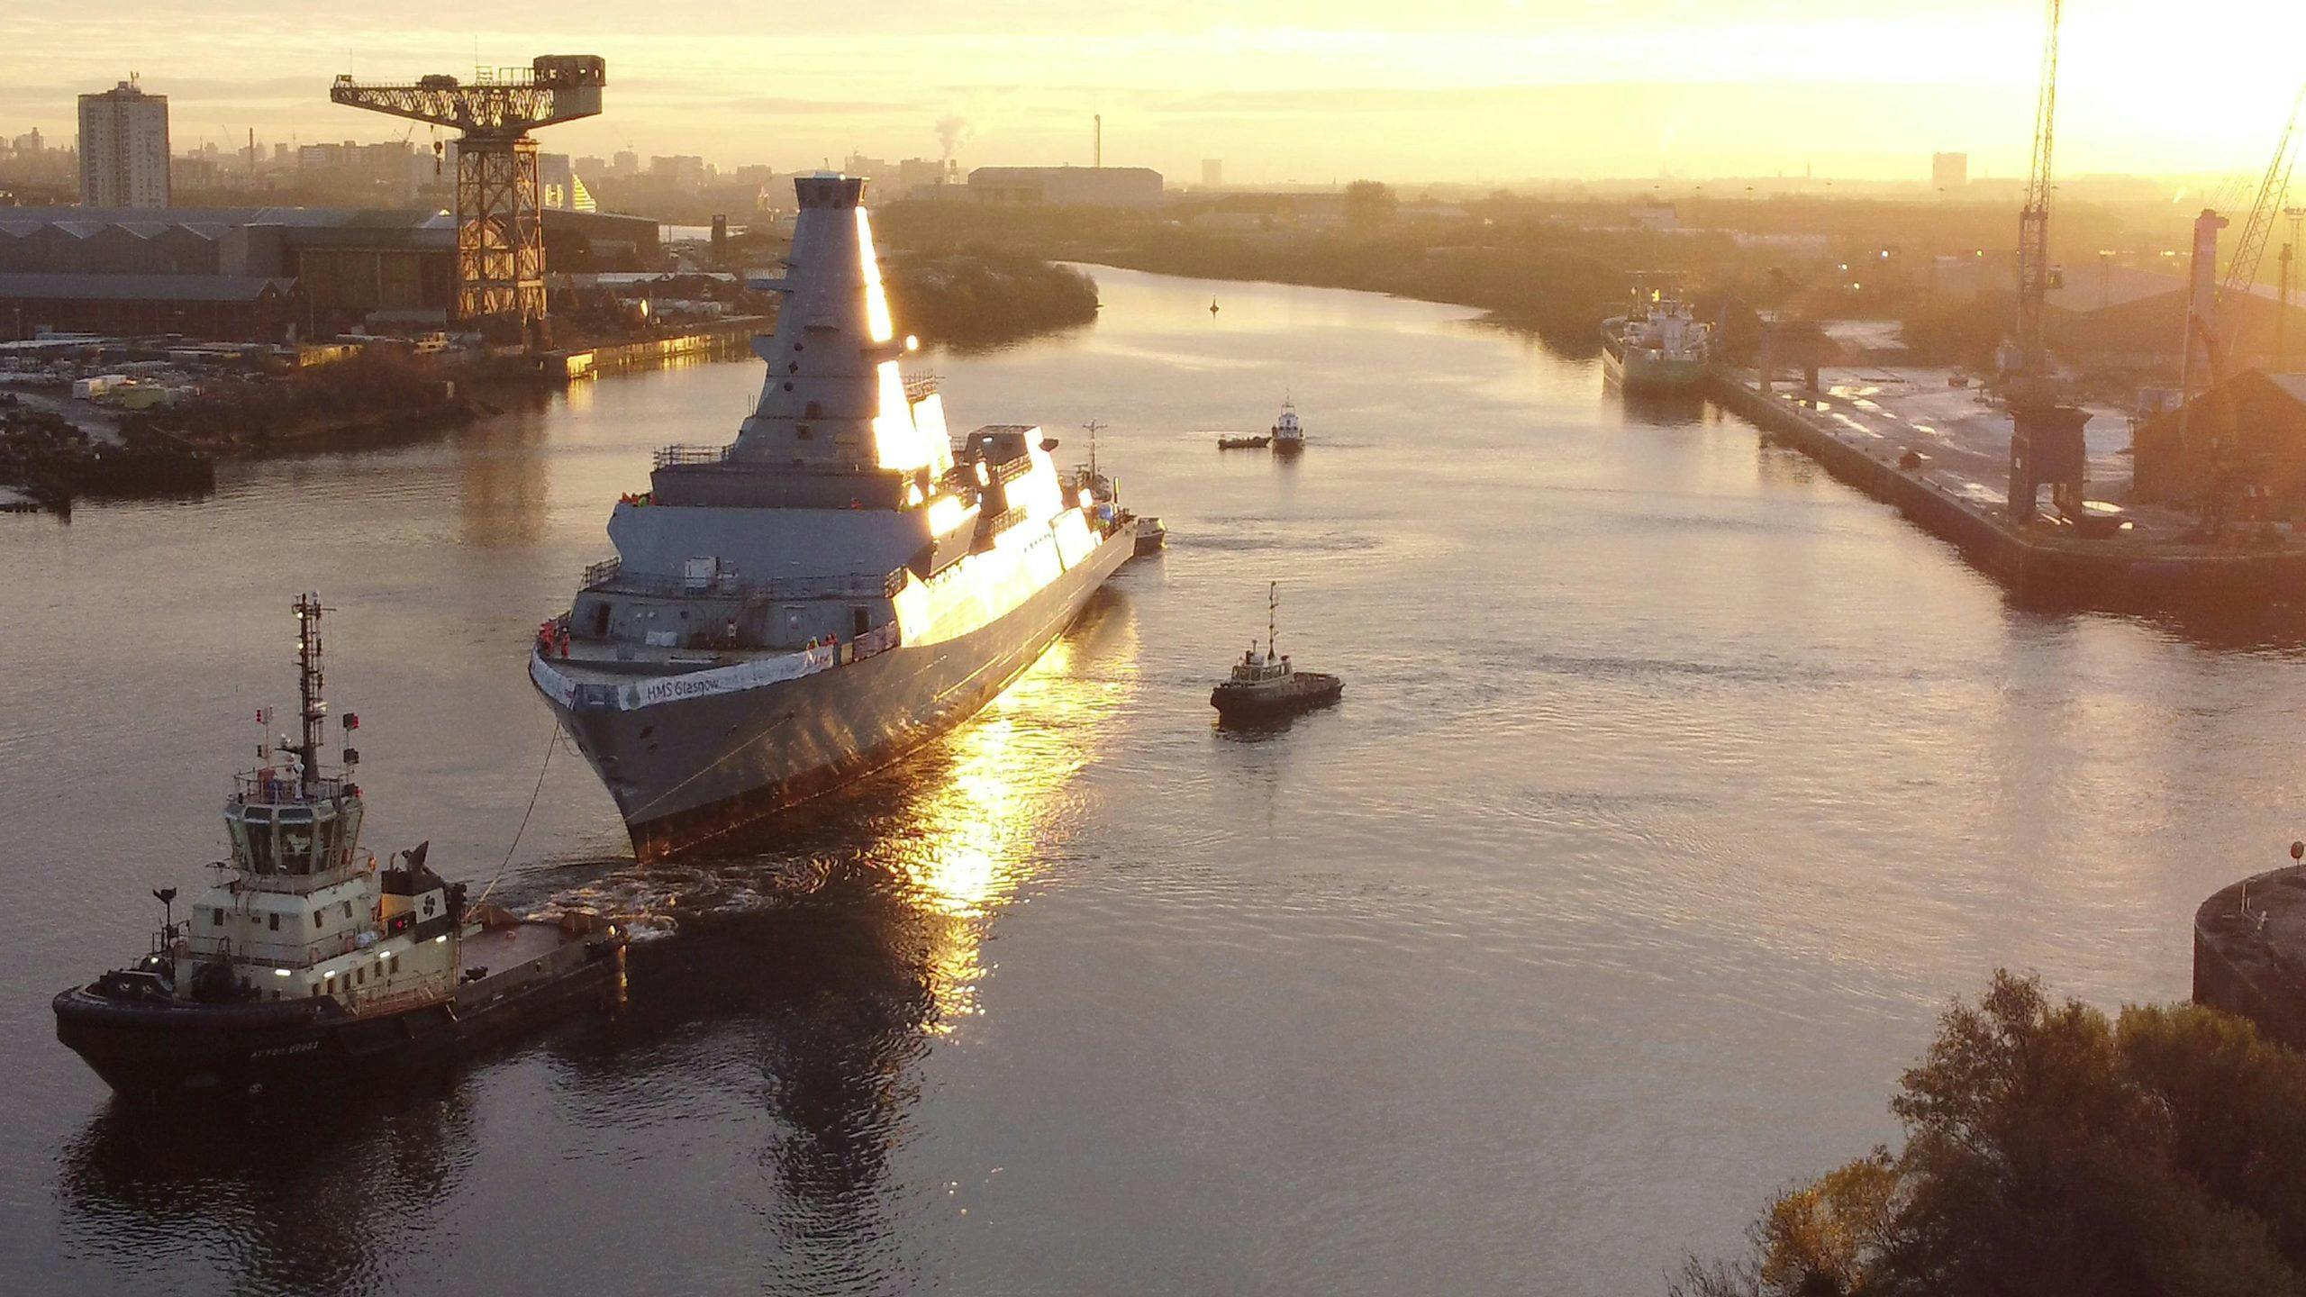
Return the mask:
M1893 505L2022 600L2165 609L2306 598L2306 545L2292 538L2258 547L2202 542L2188 519L2156 510L2108 512L2108 522L2122 522L2103 538L2050 519L2015 526L1992 457L1976 445L1955 445L1949 457L1937 422L1902 415L1884 399L1889 392L1764 390L1753 372L1716 369L1709 397ZM2004 432L2004 452L2006 443Z

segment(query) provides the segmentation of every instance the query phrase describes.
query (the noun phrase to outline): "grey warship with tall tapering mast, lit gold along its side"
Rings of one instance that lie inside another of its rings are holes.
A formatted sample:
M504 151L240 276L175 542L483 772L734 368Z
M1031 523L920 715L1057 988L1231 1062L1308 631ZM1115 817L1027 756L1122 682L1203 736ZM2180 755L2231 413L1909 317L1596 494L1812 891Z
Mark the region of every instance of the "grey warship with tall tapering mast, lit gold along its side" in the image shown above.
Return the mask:
M906 378L865 180L793 180L768 372L729 445L657 452L616 558L537 630L528 676L641 859L710 842L952 729L1137 552L1040 427L955 448Z

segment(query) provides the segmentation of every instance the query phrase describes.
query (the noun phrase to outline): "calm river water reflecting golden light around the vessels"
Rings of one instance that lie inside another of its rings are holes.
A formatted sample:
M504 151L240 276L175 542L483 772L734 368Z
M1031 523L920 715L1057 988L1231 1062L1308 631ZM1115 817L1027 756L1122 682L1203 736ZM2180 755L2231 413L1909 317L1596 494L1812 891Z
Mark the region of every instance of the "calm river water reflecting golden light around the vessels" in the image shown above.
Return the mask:
M1656 1292L1896 1138L1946 997L2184 997L2193 905L2299 833L2281 618L2013 607L1455 307L1098 279L1093 328L929 367L1065 462L1105 420L1167 556L733 859L634 865L563 752L498 895L634 916L625 1011L321 1115L115 1110L48 995L221 852L307 586L369 845L493 877L549 750L530 630L756 369L0 519L5 1288ZM1284 395L1301 462L1213 448ZM1268 579L1347 697L1222 734Z

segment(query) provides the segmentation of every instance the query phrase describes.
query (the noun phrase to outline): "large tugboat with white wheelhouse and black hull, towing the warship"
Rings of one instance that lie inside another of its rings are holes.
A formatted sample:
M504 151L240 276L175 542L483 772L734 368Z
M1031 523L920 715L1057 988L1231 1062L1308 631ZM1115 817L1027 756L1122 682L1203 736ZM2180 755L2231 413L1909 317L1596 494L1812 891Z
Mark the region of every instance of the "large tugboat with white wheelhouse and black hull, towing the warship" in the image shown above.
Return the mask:
M371 1080L440 1062L484 1036L613 995L625 932L593 914L523 921L468 905L427 847L392 865L360 847L364 801L344 748L321 764L318 595L295 602L302 741L258 743L224 801L231 861L125 969L55 997L55 1039L118 1094L233 1096ZM270 709L256 720L270 729ZM344 715L346 739L360 718ZM487 895L482 895L487 900Z

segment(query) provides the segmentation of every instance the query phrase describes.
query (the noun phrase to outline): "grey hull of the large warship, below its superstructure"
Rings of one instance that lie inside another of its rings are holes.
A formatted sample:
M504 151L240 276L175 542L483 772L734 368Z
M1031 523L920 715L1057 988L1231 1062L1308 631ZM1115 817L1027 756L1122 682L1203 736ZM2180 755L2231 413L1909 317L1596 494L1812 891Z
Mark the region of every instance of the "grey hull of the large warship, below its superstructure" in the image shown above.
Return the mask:
M625 706L618 690L556 688L556 665L537 653L530 681L609 787L634 852L664 859L835 792L969 720L1135 549L1132 528L1116 528L987 625L791 681Z

